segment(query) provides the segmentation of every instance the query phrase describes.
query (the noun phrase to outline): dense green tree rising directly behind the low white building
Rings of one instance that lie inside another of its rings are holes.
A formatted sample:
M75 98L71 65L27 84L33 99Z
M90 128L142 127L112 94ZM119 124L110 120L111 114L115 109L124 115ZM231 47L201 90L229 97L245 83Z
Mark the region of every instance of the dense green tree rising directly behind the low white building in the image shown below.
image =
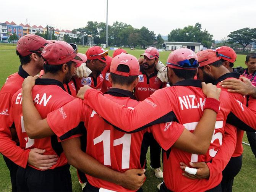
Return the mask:
M173 42L201 42L205 47L211 47L213 35L204 29L202 25L196 23L195 26L186 26L183 29L173 29L168 35L168 41Z

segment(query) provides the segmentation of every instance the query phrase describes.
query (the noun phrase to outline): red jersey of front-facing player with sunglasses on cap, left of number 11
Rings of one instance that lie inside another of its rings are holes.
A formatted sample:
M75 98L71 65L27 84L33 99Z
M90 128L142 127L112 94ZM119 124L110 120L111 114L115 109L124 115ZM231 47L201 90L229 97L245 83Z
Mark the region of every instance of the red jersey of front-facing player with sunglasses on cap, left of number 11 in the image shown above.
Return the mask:
M106 76L107 71L109 71L109 69L110 69L110 63L108 62L104 70L102 72L97 73L96 78L94 78L92 74L90 74L89 77L83 77L83 78L75 77L77 91L80 89L80 87L83 87L84 85L90 86L93 89L97 89L101 91L104 78Z

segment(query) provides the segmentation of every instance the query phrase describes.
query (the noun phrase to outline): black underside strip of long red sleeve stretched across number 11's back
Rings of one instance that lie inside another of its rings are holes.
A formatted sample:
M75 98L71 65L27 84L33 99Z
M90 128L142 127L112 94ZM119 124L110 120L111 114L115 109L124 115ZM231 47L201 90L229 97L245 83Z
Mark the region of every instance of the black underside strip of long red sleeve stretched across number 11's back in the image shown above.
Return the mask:
M106 119L104 119L105 122L107 122L108 124L112 125L115 129L117 129L118 131L122 131L122 132L126 132L126 133L134 133L134 132L138 132L141 131L143 129L146 129L149 126L155 125L155 124L159 124L159 123L167 123L167 122L171 122L171 121L177 121L176 115L174 114L173 111L170 111L169 113L167 113L166 115L156 119L155 121L152 121L151 123L148 123L142 127L139 127L138 129L135 129L134 131L123 131L123 129L120 129L117 126L114 126L113 124L109 123L109 121L107 121ZM121 120L122 121L122 120Z

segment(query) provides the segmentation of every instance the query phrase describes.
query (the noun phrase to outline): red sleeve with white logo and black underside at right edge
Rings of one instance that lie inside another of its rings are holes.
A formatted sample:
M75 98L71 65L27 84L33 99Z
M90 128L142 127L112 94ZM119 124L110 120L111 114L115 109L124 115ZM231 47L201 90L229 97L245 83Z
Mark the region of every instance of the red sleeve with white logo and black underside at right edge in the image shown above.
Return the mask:
M228 115L227 123L236 126L244 131L256 130L256 111L250 110L256 106L255 100L251 99L250 108L246 107L240 101L230 97L231 113ZM254 130L253 130L254 129Z

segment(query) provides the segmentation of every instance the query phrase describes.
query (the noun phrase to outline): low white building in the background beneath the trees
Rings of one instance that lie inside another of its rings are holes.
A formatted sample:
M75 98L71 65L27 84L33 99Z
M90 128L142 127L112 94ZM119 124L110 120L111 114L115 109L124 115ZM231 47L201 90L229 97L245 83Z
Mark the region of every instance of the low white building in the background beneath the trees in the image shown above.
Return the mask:
M178 48L189 48L194 52L199 52L203 50L203 45L201 43L194 42L168 42L165 41L163 44L165 50L176 50Z

